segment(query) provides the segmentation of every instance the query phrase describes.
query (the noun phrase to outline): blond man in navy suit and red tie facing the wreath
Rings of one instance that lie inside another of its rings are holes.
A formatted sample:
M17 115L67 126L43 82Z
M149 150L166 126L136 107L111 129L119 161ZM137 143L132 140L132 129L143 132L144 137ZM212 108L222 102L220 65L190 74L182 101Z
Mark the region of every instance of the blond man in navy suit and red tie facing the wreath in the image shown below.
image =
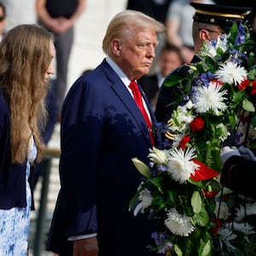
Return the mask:
M157 32L148 15L125 10L108 25L107 58L69 90L61 113L61 191L48 249L59 255L146 256L154 224L128 206L142 177L131 159L148 162L154 114L143 96L151 127L129 87L149 72ZM143 93L142 93L143 95Z

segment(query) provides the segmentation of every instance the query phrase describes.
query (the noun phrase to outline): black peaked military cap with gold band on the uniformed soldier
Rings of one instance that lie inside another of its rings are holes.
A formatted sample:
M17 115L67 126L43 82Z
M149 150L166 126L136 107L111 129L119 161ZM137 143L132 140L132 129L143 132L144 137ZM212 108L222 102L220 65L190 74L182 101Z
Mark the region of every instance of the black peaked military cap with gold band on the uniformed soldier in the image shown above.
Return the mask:
M245 22L253 9L250 7L227 6L220 4L190 3L195 8L193 20L218 25L229 31L234 22Z

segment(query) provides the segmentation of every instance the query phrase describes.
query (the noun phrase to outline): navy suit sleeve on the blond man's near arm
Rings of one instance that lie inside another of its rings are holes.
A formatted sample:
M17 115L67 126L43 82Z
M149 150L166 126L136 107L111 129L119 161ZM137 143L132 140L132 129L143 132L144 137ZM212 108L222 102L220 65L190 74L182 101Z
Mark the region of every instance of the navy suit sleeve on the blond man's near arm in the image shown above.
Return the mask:
M60 177L66 236L95 233L96 160L103 131L102 102L82 80L62 108Z

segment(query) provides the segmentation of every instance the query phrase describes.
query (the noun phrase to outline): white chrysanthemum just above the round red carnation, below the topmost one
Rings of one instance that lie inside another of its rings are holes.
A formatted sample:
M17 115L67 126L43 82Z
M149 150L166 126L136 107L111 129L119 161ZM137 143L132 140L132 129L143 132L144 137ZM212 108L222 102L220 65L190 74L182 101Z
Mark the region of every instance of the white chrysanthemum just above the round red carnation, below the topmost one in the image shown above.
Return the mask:
M210 82L208 87L199 87L197 102L195 103L195 109L198 113L206 113L212 110L213 113L217 114L219 111L224 111L227 105L224 103L226 99L224 95L226 90L220 91L221 86L218 86L215 82Z

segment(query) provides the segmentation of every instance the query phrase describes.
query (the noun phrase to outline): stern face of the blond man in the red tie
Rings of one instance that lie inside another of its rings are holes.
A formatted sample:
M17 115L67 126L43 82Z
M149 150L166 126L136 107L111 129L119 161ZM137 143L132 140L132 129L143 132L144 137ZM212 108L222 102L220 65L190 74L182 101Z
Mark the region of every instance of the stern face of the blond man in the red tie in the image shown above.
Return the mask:
M123 40L120 66L129 79L139 79L149 73L157 44L156 32L150 28Z

